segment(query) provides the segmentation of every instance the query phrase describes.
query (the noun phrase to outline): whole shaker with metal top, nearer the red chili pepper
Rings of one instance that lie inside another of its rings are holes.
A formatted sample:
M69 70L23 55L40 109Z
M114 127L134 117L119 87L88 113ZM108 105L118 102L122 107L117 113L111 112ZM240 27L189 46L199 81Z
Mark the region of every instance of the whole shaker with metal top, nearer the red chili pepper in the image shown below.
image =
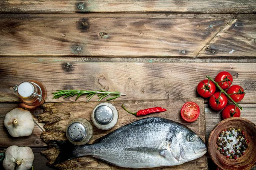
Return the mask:
M111 129L116 125L118 119L118 111L111 103L101 103L93 109L93 124L102 130Z

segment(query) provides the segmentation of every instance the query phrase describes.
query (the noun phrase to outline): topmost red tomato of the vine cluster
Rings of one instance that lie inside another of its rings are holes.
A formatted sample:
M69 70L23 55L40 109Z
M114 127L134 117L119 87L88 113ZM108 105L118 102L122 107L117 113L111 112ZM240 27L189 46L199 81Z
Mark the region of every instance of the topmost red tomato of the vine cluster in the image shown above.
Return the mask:
M218 85L221 86L222 89L229 88L233 82L233 77L227 71L221 71L215 77L215 82L218 82Z

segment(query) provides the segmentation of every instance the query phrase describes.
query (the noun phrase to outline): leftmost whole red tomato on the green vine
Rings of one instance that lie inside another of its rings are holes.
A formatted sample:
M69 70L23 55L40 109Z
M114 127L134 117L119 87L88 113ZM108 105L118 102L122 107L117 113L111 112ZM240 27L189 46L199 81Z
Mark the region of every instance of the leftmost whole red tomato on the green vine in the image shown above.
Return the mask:
M202 97L207 98L212 96L212 94L215 93L215 90L216 90L215 84L212 81L209 81L209 79L205 79L200 83L198 83L197 91L198 91L198 94Z

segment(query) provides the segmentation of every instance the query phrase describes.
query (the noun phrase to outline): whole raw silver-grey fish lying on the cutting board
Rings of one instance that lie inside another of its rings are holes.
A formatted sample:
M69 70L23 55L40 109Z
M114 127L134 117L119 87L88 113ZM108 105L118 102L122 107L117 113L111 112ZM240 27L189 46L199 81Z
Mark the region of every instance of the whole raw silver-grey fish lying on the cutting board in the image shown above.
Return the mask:
M63 141L49 144L60 150L54 165L90 155L128 168L179 165L203 156L207 150L203 140L188 127L159 117L132 122L94 144L77 146Z

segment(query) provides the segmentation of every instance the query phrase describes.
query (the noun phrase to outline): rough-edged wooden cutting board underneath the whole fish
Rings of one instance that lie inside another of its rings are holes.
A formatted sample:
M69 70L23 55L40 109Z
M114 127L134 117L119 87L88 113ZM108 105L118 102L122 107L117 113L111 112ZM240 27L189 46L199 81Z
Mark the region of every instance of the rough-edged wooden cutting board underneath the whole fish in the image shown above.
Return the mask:
M200 107L199 118L192 123L183 121L180 116L180 109L185 102L192 101L196 102ZM205 140L206 129L205 129L205 114L204 114L204 100L201 98L192 99L165 99L165 100L128 100L128 101L114 101L112 103L119 112L119 119L115 127L111 130L99 130L91 122L91 113L93 108L99 104L99 102L63 102L63 103L49 103L42 105L44 112L38 116L39 122L45 122L45 129L41 134L41 138L47 142L49 140L67 140L65 136L65 129L70 120L76 117L82 117L89 120L93 125L93 137L89 143L93 143L95 139L104 136L111 131L134 122L138 119L145 117L158 116L166 119L170 119L176 122L180 122L186 125L197 133L203 140ZM141 109L151 107L163 107L167 111L163 113L154 113L148 116L136 117L127 113L123 108L122 104L125 105L131 112L137 112ZM48 159L48 164L52 164L59 151L55 148L49 148L42 152ZM127 168L116 167L114 165L105 163L99 159L91 156L83 156L64 163L56 165L56 167L62 170L126 170ZM157 170L206 170L207 169L207 156L204 155L199 159L186 162L179 166L172 167L157 167L153 168ZM148 170L148 169L147 169Z

